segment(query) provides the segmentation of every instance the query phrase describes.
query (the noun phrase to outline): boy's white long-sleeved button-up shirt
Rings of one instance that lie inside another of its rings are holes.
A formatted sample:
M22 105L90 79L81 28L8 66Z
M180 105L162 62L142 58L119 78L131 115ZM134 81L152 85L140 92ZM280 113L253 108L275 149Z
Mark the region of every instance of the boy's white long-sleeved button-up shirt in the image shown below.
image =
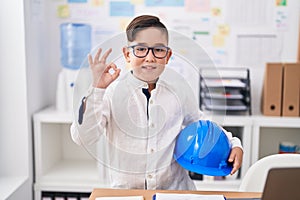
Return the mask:
M201 118L196 97L176 72L165 70L151 92L148 85L127 73L107 89L91 88L83 121L71 126L73 140L98 148L97 160L106 181L115 188L193 190L188 172L173 158L176 137ZM238 138L226 132L232 146Z

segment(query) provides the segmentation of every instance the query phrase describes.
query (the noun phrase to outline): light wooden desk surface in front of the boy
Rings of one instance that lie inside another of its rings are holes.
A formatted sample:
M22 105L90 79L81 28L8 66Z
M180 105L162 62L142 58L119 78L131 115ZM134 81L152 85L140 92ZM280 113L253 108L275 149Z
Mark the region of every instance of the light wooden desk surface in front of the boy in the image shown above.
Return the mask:
M213 194L224 195L226 198L260 198L258 192L225 192L225 191L192 191L192 190L126 190L126 189L100 189L93 190L90 200L96 197L117 197L117 196L144 196L145 200L152 200L155 193L189 193L189 194Z

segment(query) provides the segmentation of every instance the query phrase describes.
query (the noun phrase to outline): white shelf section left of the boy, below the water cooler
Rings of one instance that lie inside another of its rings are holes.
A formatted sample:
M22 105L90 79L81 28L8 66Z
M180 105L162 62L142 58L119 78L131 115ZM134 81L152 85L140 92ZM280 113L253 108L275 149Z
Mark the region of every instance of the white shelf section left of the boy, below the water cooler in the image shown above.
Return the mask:
M71 139L72 115L46 109L34 115L35 199L42 191L92 192L103 187L97 162Z

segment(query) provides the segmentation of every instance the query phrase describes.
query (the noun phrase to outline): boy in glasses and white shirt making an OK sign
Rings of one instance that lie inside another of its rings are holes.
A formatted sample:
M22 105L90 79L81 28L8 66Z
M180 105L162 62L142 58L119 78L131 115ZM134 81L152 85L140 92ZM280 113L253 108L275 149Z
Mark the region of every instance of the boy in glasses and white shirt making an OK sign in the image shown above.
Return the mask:
M111 49L102 56L102 49L94 58L89 55L92 88L83 100L82 116L72 124L72 138L85 146L100 136L107 138L111 187L193 190L193 181L173 153L179 132L202 113L185 81L165 69L172 55L168 31L159 18L142 15L131 21L126 34L123 54L132 70L121 80L115 81L120 69L106 63ZM238 138L226 135L232 144L233 174L243 151Z

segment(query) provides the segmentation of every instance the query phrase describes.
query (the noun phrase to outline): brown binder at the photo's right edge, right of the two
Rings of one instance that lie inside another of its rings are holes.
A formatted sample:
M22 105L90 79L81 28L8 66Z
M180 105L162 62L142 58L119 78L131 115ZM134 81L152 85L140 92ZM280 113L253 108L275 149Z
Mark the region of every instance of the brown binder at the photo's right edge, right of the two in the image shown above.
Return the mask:
M299 116L300 63L284 65L282 116Z

